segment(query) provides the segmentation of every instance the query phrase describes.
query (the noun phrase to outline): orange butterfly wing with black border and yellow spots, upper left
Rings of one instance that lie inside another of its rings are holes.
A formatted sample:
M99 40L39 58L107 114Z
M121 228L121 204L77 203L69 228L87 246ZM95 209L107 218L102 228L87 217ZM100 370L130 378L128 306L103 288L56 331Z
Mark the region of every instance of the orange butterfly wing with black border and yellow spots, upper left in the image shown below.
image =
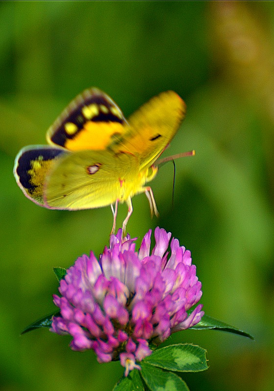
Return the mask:
M78 95L47 131L47 142L68 149L105 150L128 129L119 107L97 88Z

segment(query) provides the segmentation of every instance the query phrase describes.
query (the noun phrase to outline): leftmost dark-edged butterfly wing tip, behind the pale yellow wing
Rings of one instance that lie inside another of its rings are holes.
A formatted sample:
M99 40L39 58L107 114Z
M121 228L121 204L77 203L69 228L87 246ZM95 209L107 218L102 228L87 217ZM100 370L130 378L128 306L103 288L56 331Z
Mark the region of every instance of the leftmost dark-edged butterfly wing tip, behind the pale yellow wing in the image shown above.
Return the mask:
M61 148L32 145L23 148L15 159L14 176L24 195L38 205L46 206L43 199L46 175L67 152Z

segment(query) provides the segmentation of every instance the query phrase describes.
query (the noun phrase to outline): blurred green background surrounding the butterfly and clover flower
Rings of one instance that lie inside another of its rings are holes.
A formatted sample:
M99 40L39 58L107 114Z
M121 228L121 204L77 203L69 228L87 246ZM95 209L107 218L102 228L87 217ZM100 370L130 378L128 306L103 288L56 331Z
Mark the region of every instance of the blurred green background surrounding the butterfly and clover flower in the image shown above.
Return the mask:
M119 363L73 352L70 338L20 332L54 311L53 266L108 244L110 208L50 211L13 177L16 154L83 89L99 87L125 116L173 89L187 116L165 155L195 149L152 182L128 223L157 225L192 252L206 313L250 332L187 330L168 344L206 348L210 368L183 375L191 391L274 389L274 2L0 2L0 390L109 391ZM127 213L118 209L118 226ZM140 243L140 241L138 241Z

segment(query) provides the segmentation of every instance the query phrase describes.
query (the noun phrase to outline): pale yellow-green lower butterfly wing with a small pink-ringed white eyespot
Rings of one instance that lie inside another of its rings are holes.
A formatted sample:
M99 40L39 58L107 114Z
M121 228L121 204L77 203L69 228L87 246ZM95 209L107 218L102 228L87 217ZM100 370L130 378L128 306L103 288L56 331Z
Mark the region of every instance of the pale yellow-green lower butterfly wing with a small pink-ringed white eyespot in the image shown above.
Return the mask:
M60 159L46 178L44 201L52 209L90 209L120 195L122 162L108 151L78 151Z

